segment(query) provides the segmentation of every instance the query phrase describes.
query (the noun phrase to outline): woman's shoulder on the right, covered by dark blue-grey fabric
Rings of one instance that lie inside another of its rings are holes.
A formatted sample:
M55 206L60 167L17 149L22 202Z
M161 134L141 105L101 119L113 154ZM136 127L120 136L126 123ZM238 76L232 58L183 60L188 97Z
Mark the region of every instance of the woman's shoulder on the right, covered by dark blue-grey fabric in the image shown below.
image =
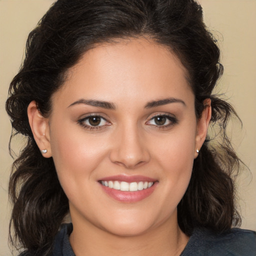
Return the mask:
M198 228L181 255L255 256L256 233L240 228L231 228L223 233Z

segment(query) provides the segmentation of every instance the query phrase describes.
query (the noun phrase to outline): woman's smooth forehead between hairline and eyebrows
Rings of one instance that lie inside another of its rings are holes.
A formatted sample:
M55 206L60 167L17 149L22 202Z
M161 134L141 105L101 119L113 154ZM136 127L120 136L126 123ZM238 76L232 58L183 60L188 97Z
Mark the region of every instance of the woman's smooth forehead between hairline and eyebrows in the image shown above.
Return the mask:
M56 93L71 103L79 97L130 102L192 93L186 70L166 46L145 38L97 44L67 72ZM177 95L175 95L177 94Z

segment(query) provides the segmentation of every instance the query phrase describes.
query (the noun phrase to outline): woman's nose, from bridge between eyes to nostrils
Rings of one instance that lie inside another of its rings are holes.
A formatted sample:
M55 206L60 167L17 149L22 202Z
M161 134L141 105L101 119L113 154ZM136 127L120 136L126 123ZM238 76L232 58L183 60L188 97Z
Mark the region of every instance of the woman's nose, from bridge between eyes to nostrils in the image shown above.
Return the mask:
M139 134L138 128L124 128L117 131L114 147L110 152L110 160L125 168L133 169L149 161L150 154L146 141Z

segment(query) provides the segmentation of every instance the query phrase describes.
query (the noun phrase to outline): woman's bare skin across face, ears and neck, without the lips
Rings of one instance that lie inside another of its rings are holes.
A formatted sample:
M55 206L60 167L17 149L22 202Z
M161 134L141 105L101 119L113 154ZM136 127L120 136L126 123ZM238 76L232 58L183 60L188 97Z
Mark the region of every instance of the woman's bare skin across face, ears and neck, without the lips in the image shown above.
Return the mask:
M166 98L179 101L145 107ZM111 102L115 109L81 99ZM88 114L105 120L88 127ZM158 125L155 115L171 118ZM180 254L188 237L178 227L176 207L205 139L210 106L196 120L186 70L174 54L145 38L98 45L68 70L52 96L49 118L34 101L28 117L69 199L75 255ZM121 202L98 182L119 174L147 176L157 184L143 200Z

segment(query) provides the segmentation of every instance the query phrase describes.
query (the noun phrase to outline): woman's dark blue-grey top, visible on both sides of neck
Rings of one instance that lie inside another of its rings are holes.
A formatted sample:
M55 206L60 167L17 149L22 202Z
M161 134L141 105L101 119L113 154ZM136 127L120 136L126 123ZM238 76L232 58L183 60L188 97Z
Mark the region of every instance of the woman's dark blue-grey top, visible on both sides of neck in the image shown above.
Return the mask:
M61 226L49 256L75 256L69 242L72 229L71 223ZM215 233L196 228L180 256L256 256L256 232L231 228L224 233Z

